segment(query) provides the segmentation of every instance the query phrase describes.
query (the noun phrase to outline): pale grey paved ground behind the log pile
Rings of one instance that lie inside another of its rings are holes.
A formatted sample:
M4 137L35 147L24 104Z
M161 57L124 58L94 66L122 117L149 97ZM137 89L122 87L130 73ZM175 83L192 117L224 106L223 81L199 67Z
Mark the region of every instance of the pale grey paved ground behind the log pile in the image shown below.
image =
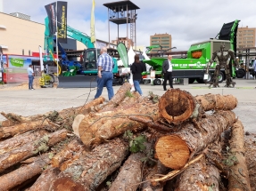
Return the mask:
M238 99L238 106L234 111L244 123L245 131L256 132L256 80L235 79L234 81L236 82L235 88L225 88L224 83L215 89L209 89L206 84L174 84L174 88L186 90L194 96L207 93L233 94ZM117 92L120 86L113 88L114 92ZM142 84L141 88L144 95L148 92L158 95L164 93L161 85ZM11 85L0 85L0 111L24 116L44 114L52 110L81 106L87 99L94 99L94 96L95 90L90 91L88 88L39 88L29 91L26 87L17 89ZM103 90L103 97L107 99L106 89ZM2 115L0 115L0 120L4 120Z

